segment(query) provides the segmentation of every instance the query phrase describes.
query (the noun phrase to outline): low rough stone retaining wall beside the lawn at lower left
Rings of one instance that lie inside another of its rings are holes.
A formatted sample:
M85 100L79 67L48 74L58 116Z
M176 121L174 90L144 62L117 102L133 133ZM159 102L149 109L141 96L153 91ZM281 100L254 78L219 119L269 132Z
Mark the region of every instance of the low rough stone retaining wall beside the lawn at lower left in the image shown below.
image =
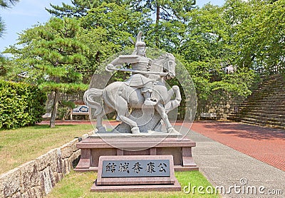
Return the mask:
M88 137L83 135L82 139ZM0 198L44 197L79 160L78 139L0 175ZM2 159L4 160L4 159Z

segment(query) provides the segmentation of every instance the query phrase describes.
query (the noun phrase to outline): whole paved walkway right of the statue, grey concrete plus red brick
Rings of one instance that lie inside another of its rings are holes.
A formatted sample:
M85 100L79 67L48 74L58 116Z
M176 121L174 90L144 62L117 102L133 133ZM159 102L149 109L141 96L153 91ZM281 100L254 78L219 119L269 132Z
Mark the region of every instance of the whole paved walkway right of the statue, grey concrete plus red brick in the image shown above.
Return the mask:
M284 130L220 122L194 123L191 130L194 160L222 197L285 197L285 172L272 166L284 168Z

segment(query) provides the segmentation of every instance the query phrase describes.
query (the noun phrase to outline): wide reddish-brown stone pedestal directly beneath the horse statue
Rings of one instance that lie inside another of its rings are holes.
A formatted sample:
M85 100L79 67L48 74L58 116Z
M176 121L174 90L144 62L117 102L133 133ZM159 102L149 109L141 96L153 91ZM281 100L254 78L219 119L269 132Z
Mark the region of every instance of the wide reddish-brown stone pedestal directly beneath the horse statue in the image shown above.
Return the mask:
M98 135L90 136L77 143L77 147L81 149L81 159L75 171L97 172L99 157L110 155L172 155L175 171L199 170L192 159L192 147L195 146L196 143L188 137L173 137L171 134L165 138L155 135L110 136L103 139Z

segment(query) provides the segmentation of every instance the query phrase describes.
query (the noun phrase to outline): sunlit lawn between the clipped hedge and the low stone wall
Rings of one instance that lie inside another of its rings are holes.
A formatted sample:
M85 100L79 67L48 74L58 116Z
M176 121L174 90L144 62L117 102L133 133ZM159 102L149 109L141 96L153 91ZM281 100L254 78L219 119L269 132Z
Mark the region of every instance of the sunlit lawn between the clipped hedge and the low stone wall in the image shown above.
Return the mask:
M36 125L0 130L0 174L93 130L92 125Z

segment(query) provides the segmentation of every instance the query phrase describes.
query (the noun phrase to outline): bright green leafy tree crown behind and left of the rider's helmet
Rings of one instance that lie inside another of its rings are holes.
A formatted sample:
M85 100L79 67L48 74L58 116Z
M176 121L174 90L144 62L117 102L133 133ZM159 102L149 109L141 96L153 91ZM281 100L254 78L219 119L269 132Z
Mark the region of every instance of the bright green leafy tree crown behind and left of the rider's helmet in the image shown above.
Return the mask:
M78 41L88 46L88 63L81 66L85 75L84 82L89 83L100 64L114 53L132 47L129 37L135 37L144 24L140 12L133 12L127 6L103 3L90 9L81 18L84 28Z

